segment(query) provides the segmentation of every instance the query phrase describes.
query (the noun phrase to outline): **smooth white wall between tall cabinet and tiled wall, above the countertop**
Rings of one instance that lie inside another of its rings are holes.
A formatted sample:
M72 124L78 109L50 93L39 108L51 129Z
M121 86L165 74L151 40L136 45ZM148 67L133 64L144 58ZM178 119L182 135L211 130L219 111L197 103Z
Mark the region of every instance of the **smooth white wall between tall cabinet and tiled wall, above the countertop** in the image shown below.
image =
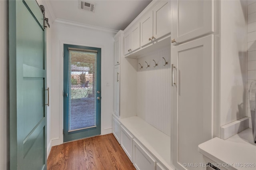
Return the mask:
M246 117L246 6L220 2L220 126Z

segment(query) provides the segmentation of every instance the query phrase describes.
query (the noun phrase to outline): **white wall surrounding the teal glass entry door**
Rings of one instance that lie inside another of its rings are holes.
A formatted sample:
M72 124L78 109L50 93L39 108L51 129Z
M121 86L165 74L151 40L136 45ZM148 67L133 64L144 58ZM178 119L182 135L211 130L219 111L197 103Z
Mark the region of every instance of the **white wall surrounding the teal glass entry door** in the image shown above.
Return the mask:
M102 49L101 134L112 132L115 33L85 28L82 25L71 26L68 22L63 24L56 21L52 25L52 146L63 143L63 43ZM109 86L106 86L106 83L109 83Z

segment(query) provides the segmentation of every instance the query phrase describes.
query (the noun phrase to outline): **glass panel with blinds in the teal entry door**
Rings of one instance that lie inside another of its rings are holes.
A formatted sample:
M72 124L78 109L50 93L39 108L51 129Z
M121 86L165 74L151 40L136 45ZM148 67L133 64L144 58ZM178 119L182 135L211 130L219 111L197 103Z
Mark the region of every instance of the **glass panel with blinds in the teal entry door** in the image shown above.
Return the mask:
M96 126L97 53L69 50L68 131Z

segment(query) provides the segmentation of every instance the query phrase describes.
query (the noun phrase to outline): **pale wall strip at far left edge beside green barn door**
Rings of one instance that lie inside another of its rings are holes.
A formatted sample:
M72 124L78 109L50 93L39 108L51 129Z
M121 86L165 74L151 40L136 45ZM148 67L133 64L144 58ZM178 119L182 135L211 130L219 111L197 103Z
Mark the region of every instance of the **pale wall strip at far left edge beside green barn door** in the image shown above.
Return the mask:
M8 56L7 56L7 2L0 0L0 169L8 167Z

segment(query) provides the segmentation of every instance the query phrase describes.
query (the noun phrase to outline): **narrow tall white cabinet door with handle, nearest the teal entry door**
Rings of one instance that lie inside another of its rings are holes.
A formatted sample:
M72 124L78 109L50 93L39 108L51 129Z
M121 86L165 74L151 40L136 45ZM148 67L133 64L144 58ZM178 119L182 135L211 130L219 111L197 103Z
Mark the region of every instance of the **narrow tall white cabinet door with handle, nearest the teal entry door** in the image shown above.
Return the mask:
M114 69L114 114L120 116L120 65Z

